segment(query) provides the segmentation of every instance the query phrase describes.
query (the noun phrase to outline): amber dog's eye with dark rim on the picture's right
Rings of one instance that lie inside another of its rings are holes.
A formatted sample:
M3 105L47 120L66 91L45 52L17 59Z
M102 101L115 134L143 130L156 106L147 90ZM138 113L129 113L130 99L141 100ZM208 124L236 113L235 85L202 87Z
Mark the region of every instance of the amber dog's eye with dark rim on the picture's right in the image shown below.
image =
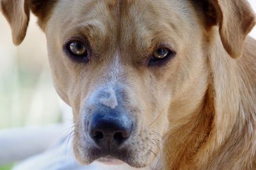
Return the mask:
M158 48L152 54L148 66L161 66L175 56L175 52L168 48Z

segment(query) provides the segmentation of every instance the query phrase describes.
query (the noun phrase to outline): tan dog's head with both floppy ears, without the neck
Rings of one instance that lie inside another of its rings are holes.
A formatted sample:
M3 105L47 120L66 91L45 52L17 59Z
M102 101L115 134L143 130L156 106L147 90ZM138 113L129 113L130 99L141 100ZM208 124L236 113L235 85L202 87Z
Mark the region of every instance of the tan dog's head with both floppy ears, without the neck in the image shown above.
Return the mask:
M202 106L211 38L239 57L255 22L238 0L2 0L16 45L30 9L47 37L56 90L74 112L77 160L132 167L160 157L164 134Z

